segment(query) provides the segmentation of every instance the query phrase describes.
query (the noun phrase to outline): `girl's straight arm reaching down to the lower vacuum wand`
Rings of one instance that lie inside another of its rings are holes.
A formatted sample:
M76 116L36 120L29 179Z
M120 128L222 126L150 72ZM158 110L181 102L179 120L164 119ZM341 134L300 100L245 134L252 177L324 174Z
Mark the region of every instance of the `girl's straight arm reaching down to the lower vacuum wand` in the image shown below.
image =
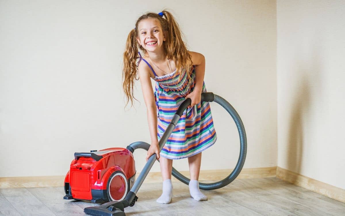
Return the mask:
M150 79L150 69L145 63L141 61L138 65L138 73L141 83L142 95L144 96L146 105L147 122L149 125L151 137L151 146L147 151L146 161L154 153L157 154L157 159L159 159L159 145L157 138L157 108Z

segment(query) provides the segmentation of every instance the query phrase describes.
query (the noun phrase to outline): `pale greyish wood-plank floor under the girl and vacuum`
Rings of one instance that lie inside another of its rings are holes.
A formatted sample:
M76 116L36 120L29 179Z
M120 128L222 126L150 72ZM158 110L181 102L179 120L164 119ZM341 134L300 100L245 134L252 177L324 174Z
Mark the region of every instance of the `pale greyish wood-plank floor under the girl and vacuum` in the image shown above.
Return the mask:
M289 184L278 178L236 179L230 185L203 191L207 201L195 201L188 186L173 182L170 204L156 203L161 183L144 184L126 215L345 215L345 203ZM63 200L62 187L0 189L0 215L84 215L95 204Z

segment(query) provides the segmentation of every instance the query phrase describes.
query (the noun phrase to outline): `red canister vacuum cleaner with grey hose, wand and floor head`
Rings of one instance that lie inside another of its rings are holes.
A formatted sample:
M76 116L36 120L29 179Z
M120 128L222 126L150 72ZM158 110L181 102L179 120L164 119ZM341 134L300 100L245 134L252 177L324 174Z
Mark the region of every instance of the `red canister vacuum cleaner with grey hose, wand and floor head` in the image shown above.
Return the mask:
M234 107L224 98L212 92L205 92L201 94L201 102L216 102L223 106L235 121L240 139L238 161L230 175L217 182L199 183L199 188L202 190L214 190L230 184L239 175L246 159L247 137L241 118ZM187 98L178 107L159 140L160 151L190 103L190 98ZM135 205L135 202L138 200L136 194L157 159L157 155L153 154L135 181L135 163L132 153L135 149L141 148L148 150L149 147L150 144L146 142L134 142L128 145L126 149L108 148L100 151L76 152L75 159L71 162L70 170L65 178L66 196L64 199L89 200L92 203L104 203L99 206L85 208L84 213L88 215L126 215L124 209L128 206ZM172 176L186 185L189 184L190 179L182 175L174 167L172 168Z

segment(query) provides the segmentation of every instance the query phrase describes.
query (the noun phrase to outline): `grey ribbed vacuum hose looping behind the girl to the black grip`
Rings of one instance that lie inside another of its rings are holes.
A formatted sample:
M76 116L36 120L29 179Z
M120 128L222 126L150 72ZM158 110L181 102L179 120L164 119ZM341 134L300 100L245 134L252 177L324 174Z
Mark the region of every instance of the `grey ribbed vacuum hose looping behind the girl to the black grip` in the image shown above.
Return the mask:
M234 109L233 106L229 102L227 102L224 98L213 94L211 92L203 93L201 94L201 101L202 102L216 102L220 104L221 106L224 107L226 111L231 115L233 120L235 121L235 124L237 126L238 134L239 134L239 140L240 140L240 152L239 152L239 157L238 161L236 164L236 167L234 170L230 173L229 176L227 176L225 179L213 182L213 183L199 183L199 188L202 190L214 190L218 188L222 188L228 184L230 184L241 172L244 162L246 160L246 155L247 155L247 137L246 137L246 130L244 129L243 122L241 118L239 117L238 113ZM176 111L176 114L181 114L183 111L187 108L187 106L190 105L190 99L188 98L186 101L184 101L178 110ZM134 152L135 149L145 149L148 151L150 148L150 144L146 142L134 142L131 143L130 145L127 146L127 149L130 150L131 152ZM182 175L179 171L177 171L174 167L172 167L171 171L172 176L180 180L181 182L185 183L186 185L189 184L190 179L187 178L186 176Z

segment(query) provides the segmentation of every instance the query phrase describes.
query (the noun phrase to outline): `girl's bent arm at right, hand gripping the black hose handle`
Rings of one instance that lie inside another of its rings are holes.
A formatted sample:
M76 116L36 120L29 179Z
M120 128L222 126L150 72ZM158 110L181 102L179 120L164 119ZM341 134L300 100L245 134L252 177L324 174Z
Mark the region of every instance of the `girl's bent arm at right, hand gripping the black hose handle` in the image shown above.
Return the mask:
M191 99L191 104L188 107L193 107L201 101L201 92L203 91L205 77L205 56L193 51L188 52L191 56L193 65L195 65L195 84L193 92L188 94L185 98Z

